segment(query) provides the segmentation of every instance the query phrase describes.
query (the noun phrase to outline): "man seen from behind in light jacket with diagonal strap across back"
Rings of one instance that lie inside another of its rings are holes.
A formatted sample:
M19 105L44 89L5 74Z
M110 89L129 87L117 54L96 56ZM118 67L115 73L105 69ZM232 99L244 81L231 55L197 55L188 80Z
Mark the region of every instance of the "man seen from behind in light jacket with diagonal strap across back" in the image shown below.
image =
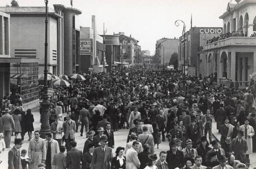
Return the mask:
M153 135L148 134L148 127L143 127L143 133L138 135L138 141L141 144L148 144L150 146L149 152L154 154L154 138Z

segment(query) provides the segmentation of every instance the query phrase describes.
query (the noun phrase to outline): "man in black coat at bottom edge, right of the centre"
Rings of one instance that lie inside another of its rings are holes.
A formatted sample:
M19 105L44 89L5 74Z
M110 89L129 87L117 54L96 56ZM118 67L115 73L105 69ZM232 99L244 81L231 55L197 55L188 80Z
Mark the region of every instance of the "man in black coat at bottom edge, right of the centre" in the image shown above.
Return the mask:
M170 150L167 151L166 162L168 168L166 169L175 169L182 168L184 166L184 155L183 152L177 149L175 141L169 142Z

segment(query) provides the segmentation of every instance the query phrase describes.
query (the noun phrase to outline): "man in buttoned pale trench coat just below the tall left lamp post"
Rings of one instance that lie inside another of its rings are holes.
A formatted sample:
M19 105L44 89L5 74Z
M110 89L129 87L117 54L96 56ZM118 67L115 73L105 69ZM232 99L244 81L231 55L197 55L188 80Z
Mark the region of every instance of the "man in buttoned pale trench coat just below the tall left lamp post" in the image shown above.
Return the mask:
M44 139L40 138L40 131L35 130L35 138L29 141L28 156L31 165L29 169L37 169L39 163L45 163L46 147Z

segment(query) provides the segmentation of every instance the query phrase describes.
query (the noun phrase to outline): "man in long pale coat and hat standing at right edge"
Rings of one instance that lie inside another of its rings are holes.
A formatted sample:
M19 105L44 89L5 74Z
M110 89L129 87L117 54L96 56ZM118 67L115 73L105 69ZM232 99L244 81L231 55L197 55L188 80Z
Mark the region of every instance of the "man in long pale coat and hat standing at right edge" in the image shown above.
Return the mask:
M250 154L253 154L253 135L255 134L253 127L249 125L249 119L245 118L244 124L240 126L240 131L244 132L243 138L247 142L248 150L246 151L246 158L249 158Z

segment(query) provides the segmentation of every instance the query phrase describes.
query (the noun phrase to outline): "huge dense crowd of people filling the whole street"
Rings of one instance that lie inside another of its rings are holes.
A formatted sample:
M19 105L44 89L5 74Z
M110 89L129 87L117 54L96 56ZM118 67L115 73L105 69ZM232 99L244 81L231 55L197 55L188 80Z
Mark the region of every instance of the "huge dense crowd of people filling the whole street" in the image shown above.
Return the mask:
M9 169L249 168L250 155L256 152L254 84L243 92L213 78L154 67L84 77L83 82L58 87L49 98L50 132L45 139L38 130L32 138L31 110L25 114L20 101L12 106L8 97L3 99L0 141L6 148L15 132ZM212 137L213 119L220 141ZM87 139L79 150L75 133L83 136L84 129ZM115 147L116 131L125 129L127 144ZM26 132L29 147L20 153ZM161 142L169 142L169 149L157 155Z

